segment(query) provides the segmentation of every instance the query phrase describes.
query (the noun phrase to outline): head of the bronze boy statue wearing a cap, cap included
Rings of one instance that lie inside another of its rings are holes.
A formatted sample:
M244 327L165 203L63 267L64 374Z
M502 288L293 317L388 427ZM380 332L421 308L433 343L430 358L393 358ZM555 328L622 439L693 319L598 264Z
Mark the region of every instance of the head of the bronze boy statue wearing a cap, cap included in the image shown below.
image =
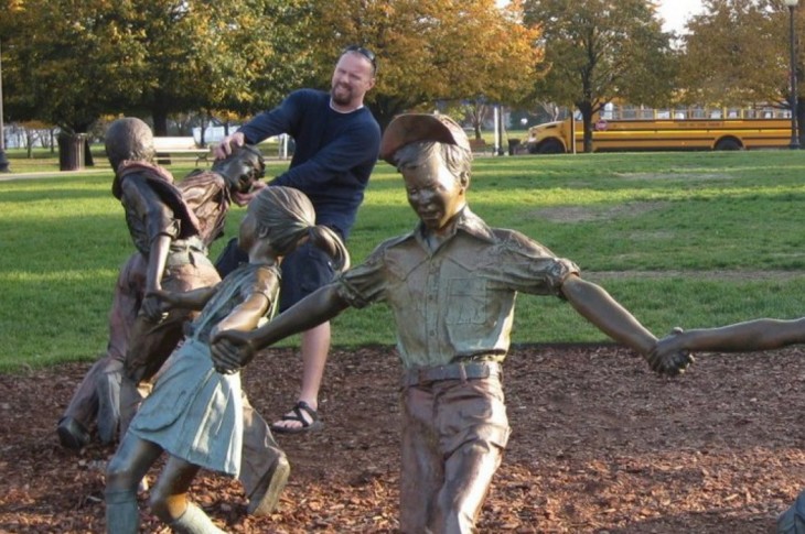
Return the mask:
M466 205L472 152L466 133L449 117L395 118L383 134L380 157L402 174L408 203L427 230L447 228Z

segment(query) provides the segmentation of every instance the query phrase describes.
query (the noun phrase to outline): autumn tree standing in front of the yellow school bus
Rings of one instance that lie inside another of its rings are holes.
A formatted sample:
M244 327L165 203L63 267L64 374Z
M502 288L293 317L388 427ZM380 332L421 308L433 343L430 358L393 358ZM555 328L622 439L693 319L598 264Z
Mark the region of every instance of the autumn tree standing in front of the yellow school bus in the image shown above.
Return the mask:
M592 118L607 102L666 103L677 88L676 52L646 0L526 0L525 20L541 29L544 99L577 108L584 152Z

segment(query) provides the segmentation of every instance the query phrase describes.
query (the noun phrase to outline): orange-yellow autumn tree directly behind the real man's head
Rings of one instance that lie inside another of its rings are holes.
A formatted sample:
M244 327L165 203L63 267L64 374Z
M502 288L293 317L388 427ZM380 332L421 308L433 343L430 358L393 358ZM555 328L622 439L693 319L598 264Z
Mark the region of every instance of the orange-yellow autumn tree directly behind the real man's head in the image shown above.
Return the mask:
M329 84L341 45L365 44L377 53L377 86L367 95L384 127L406 110L436 102L483 99L517 105L533 95L541 53L539 32L523 24L519 1L341 0L316 3L314 42L323 51L321 85Z

